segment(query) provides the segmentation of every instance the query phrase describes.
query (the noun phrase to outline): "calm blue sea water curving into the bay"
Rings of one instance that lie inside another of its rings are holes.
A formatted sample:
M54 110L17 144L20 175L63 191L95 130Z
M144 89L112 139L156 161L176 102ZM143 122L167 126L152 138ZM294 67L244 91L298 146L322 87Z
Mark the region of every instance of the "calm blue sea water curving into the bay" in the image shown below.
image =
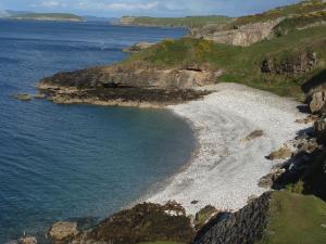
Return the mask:
M57 220L103 217L189 158L192 133L165 111L24 103L60 70L121 61L184 29L0 21L0 243Z

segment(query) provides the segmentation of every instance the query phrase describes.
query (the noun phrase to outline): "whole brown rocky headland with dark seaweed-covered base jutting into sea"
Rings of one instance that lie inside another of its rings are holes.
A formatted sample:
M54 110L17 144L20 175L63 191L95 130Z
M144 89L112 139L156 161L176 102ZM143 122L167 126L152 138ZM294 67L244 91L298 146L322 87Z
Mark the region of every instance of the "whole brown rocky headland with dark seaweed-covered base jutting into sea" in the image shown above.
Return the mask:
M106 66L57 74L42 79L39 89L57 103L162 107L202 98L208 92L192 88L217 76L209 70Z

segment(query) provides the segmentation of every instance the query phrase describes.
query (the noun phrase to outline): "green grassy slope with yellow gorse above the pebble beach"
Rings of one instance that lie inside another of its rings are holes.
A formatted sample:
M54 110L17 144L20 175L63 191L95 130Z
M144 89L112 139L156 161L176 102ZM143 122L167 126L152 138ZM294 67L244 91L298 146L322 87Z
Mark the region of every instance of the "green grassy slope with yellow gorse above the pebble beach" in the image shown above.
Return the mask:
M280 95L303 99L301 86L326 67L326 26L296 30L287 36L262 41L247 48L218 44L208 40L183 38L165 40L123 62L123 65L155 66L159 68L209 67L224 70L218 81L241 82ZM275 59L286 62L301 52L314 51L321 67L305 75L266 75L262 62Z

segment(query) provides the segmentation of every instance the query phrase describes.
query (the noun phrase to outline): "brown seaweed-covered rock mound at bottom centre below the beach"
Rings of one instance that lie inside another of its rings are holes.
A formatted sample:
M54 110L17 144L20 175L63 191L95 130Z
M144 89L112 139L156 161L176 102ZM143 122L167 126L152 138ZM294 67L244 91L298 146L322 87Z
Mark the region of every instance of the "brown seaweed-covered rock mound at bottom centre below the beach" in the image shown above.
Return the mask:
M168 241L189 243L195 236L190 219L177 203L158 205L143 203L122 210L64 243L114 243Z

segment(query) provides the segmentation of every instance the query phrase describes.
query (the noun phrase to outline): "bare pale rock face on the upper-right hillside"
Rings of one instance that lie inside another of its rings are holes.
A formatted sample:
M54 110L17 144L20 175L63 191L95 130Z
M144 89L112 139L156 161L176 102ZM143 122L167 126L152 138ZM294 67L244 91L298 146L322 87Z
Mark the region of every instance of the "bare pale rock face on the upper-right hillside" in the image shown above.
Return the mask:
M253 23L242 26L237 26L231 30L221 30L213 27L192 29L192 36L195 38L203 38L212 40L216 43L225 43L233 46L248 47L255 42L262 41L268 38L273 28L280 22L280 20Z

